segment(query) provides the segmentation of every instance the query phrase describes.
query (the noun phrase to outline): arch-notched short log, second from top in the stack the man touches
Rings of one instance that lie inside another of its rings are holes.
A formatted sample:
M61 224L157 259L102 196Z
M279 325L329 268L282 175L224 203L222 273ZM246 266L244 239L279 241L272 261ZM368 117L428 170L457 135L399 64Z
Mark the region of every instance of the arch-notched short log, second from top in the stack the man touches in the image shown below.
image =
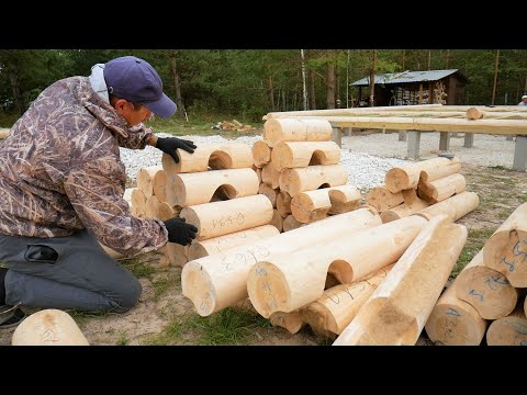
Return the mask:
M182 207L211 202L215 193L227 199L258 193L258 177L253 169L227 169L198 173L172 173L166 189L167 203ZM218 191L220 190L220 191Z

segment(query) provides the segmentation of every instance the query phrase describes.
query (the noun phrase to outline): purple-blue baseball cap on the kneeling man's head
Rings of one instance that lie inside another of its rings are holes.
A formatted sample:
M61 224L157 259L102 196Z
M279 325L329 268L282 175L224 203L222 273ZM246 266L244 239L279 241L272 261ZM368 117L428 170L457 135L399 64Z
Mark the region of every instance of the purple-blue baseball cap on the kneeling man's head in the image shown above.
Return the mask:
M176 103L162 93L162 81L150 64L135 56L123 56L104 66L108 92L141 103L160 117L176 113Z

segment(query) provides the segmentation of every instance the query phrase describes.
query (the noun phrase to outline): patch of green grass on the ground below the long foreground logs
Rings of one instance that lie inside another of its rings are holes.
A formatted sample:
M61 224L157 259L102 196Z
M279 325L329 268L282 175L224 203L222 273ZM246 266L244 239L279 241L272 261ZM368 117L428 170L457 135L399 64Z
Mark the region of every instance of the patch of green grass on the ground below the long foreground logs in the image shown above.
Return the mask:
M254 313L227 307L209 317L189 313L177 317L162 332L149 338L145 345L246 345L256 328L270 327L269 320Z

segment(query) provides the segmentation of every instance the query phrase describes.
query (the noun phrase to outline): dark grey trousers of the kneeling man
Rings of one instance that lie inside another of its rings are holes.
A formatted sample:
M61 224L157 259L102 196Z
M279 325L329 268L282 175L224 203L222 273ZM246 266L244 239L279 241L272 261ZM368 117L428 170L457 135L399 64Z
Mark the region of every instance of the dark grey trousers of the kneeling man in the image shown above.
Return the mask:
M122 313L142 293L138 280L87 230L55 238L0 234L0 262L9 269L10 305Z

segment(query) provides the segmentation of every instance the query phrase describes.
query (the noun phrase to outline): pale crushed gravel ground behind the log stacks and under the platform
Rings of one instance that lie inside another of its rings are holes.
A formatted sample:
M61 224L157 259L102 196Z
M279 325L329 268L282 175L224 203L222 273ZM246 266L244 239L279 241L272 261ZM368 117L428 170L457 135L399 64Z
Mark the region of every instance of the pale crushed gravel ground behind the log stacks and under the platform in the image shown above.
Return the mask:
M159 133L159 137L170 136ZM505 136L475 135L474 147L463 147L463 134L450 138L450 151L462 162L478 166L503 166L511 168L514 157L514 142L507 142ZM244 143L249 146L261 139L261 136L244 136L237 139L226 139L216 136L182 136L194 144L215 144L225 142ZM340 163L349 174L348 184L357 187L362 192L384 182L384 176L394 166L404 166L410 161L406 156L406 142L399 142L397 133L370 134L365 136L343 137L343 156ZM421 135L421 157L429 159L437 157L439 133L423 133ZM143 167L161 163L161 151L147 146L144 150L121 148L121 157L126 166L126 173L135 180L137 171Z

